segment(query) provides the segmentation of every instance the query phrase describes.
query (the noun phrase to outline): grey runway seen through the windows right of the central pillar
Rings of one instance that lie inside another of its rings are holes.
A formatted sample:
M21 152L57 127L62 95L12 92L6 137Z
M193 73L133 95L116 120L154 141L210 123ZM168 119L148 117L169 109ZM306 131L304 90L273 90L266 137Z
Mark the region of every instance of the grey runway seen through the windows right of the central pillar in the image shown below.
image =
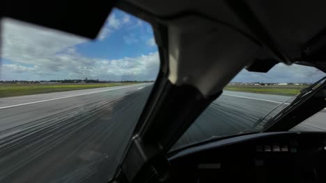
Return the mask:
M222 96L211 103L196 119L172 149L205 139L245 132L253 128L261 117L277 107L266 116L263 123L257 125L256 128L260 129L265 121L284 109L293 99L293 96L224 91ZM325 119L326 110L322 110L290 131L326 131Z

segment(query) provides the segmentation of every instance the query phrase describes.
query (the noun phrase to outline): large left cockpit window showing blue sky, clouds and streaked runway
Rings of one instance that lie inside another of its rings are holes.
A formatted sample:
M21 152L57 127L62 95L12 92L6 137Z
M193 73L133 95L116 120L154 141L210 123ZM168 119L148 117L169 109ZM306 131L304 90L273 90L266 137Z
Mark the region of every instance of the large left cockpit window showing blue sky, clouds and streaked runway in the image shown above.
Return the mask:
M96 40L1 21L0 182L107 182L159 57L150 24L113 10Z

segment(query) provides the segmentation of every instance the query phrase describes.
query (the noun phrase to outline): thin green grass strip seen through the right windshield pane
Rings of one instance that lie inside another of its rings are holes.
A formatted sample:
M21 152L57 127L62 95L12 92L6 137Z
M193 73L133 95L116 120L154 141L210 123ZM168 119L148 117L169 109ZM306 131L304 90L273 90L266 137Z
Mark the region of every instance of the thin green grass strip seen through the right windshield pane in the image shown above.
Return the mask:
M231 86L228 85L224 87L225 90L235 91L235 92L249 92L258 94L276 94L276 95L286 95L294 96L300 94L300 89L308 87L307 85L286 85L286 86Z

